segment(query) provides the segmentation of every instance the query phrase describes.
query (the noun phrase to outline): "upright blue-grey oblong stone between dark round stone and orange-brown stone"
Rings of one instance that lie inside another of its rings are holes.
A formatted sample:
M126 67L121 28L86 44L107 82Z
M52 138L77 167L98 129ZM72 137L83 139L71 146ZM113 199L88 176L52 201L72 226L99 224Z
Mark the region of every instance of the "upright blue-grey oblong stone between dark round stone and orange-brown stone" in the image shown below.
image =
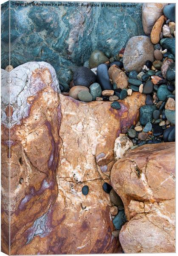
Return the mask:
M100 64L97 67L97 81L101 85L102 90L113 90L113 87L110 83L106 64Z

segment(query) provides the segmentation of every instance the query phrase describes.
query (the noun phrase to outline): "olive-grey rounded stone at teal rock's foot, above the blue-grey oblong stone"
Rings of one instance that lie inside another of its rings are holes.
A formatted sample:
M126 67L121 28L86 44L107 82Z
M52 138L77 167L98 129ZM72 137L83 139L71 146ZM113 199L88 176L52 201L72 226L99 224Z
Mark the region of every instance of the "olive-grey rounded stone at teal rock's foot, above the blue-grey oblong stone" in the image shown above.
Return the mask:
M89 58L89 67L98 67L99 64L103 64L105 62L109 61L109 59L106 57L106 55L99 50L95 50L91 53Z

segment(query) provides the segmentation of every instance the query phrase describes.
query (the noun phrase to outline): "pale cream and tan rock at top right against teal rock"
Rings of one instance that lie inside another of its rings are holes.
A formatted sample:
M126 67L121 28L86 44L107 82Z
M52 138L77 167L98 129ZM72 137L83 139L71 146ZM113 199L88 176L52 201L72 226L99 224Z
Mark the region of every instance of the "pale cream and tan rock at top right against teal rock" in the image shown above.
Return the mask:
M146 35L150 35L156 20L163 15L163 9L166 5L167 3L143 3L142 23Z

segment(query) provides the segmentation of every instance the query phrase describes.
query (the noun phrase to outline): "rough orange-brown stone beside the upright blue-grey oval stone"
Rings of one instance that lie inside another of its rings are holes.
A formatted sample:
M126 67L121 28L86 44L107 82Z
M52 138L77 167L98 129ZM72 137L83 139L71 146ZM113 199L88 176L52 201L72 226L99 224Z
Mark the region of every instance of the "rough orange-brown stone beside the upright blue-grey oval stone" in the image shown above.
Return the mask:
M116 88L125 89L128 86L127 76L126 74L120 70L117 65L112 65L109 70L108 74L110 79L112 79L113 84L116 83Z

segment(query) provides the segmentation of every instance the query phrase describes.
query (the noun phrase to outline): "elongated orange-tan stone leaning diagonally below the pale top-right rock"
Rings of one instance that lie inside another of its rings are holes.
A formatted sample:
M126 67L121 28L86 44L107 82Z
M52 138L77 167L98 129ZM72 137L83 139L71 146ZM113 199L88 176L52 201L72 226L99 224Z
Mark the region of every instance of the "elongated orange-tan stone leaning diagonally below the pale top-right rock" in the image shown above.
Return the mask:
M153 29L150 34L150 38L153 44L159 43L160 33L165 20L166 17L164 15L161 15L161 17L159 17L158 20L155 22L155 25L153 26Z

